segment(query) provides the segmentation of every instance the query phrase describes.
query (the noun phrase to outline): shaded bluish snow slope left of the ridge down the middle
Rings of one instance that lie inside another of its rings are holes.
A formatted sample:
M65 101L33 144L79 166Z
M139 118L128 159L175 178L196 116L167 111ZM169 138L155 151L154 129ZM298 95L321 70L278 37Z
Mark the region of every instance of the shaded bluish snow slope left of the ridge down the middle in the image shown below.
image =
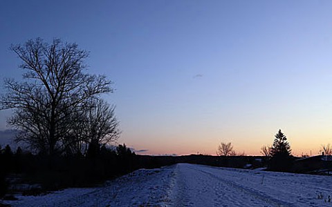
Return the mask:
M69 188L43 196L18 196L12 206L166 206L174 169L136 170L99 188Z

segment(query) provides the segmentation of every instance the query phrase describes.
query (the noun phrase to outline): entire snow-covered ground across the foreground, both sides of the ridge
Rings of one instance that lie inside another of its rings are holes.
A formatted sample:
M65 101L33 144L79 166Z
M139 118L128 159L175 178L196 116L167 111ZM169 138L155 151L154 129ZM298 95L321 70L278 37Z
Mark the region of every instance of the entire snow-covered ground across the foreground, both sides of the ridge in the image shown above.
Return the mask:
M319 198L322 196L322 199ZM12 206L332 206L332 177L177 164Z

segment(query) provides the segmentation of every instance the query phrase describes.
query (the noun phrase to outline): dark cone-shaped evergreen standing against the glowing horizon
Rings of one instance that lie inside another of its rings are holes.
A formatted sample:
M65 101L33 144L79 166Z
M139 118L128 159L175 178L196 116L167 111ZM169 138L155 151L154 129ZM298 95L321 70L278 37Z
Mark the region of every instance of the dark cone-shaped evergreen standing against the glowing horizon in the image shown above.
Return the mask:
M277 132L277 134L275 135L275 140L273 141L270 155L271 170L287 171L291 168L291 146L288 143L284 133L282 133L282 130L279 130L279 132Z

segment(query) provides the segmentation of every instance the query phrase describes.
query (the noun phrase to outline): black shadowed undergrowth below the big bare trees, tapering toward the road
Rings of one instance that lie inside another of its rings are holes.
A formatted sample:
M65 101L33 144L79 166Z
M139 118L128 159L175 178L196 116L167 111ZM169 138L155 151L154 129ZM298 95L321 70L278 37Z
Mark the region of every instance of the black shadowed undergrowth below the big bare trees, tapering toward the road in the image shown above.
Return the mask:
M0 149L0 196L8 192L10 175L19 175L25 183L39 184L39 188L23 192L38 195L47 190L84 187L102 183L139 168L158 168L168 161L136 155L125 144L115 148L102 146L89 150L86 156L46 156L22 152L10 146Z

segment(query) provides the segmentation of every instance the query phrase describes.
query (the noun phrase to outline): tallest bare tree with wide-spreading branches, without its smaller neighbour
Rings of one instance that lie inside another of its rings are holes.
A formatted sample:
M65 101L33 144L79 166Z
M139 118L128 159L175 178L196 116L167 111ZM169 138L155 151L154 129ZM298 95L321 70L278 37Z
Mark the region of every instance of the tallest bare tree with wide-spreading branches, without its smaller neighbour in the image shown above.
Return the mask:
M8 123L21 131L16 141L48 155L63 151L75 124L71 113L82 110L87 100L113 92L111 81L84 72L89 53L75 43L54 39L48 44L37 38L10 49L26 71L24 82L5 80L7 93L0 100L1 109L14 109Z

